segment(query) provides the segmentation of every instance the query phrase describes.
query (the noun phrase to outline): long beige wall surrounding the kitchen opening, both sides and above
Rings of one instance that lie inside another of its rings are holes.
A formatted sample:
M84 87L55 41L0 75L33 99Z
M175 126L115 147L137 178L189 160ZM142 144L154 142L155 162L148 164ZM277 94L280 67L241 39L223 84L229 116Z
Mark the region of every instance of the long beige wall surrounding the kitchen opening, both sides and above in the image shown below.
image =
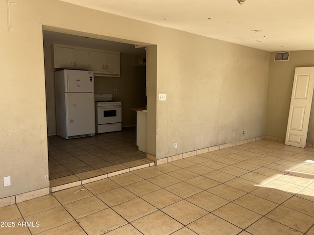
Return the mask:
M264 134L268 52L58 0L15 2L9 32L0 1L0 198L49 185L42 25L157 45L147 51L148 151L157 159Z

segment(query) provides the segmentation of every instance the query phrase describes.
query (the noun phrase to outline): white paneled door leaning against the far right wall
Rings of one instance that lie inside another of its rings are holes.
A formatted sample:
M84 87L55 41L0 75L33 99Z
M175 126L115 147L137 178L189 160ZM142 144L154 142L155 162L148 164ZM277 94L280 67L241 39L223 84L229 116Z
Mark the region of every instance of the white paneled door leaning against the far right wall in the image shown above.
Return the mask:
M287 145L305 148L314 89L314 67L295 68L291 94Z

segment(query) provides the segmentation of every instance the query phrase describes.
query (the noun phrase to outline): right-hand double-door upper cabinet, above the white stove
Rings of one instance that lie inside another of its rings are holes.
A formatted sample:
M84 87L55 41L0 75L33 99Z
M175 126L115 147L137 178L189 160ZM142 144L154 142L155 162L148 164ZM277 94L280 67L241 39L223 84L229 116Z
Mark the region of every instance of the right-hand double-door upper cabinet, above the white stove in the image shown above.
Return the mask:
M100 76L120 77L120 53L91 51L91 70Z

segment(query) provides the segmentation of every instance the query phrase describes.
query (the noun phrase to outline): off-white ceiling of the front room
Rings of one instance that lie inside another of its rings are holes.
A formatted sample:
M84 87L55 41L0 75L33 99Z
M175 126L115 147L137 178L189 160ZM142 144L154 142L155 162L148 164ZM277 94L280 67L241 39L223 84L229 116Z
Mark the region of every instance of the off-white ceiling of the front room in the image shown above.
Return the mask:
M314 0L62 1L266 51L314 50Z

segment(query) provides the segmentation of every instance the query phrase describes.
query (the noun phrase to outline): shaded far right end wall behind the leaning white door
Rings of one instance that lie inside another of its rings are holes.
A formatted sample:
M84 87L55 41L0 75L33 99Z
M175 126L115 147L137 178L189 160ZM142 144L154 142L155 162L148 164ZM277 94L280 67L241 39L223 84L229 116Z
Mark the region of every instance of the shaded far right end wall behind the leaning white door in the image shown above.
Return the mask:
M314 66L314 51L291 51L289 61L274 62L270 54L267 96L266 135L286 137L294 70ZM307 141L314 142L314 104L310 115Z

